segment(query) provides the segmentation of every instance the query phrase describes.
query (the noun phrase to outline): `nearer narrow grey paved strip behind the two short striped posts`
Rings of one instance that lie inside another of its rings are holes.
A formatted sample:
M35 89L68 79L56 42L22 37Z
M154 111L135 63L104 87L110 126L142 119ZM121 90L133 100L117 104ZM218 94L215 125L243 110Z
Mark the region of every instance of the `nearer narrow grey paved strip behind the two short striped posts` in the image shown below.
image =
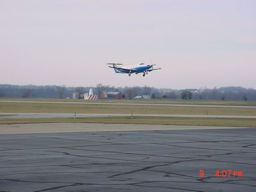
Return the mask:
M0 113L0 119L24 119L24 118L68 118L74 117L74 113ZM76 117L108 117L108 116L131 116L131 114L76 114ZM256 118L256 116L234 115L171 115L171 114L133 114L133 116L151 117L202 117L202 118Z

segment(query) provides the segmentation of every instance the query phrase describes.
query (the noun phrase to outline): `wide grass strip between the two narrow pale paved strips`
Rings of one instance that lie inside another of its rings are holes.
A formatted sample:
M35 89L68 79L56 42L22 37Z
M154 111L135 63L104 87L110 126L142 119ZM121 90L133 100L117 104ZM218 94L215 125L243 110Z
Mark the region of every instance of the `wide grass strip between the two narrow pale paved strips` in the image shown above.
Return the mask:
M112 113L256 116L255 108L0 103L1 113Z

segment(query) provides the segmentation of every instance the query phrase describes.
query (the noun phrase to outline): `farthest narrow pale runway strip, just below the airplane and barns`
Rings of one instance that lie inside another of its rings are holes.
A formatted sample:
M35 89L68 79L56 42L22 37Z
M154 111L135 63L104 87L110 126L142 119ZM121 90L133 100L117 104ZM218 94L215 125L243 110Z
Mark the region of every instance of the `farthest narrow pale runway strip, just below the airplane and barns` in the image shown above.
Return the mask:
M256 108L256 106L232 105L186 105L186 104L142 104L142 103L101 103L101 102L51 102L51 101L0 101L2 103L42 103L42 104L83 104L83 105L134 105L134 106L177 106L177 107L221 107L221 108Z

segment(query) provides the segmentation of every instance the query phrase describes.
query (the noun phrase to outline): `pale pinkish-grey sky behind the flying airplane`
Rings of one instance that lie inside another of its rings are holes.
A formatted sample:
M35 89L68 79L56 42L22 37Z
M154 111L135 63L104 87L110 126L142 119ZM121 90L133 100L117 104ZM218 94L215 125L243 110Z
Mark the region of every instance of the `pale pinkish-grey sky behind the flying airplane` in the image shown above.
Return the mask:
M0 84L256 88L256 0L0 0ZM151 59L162 70L116 74Z

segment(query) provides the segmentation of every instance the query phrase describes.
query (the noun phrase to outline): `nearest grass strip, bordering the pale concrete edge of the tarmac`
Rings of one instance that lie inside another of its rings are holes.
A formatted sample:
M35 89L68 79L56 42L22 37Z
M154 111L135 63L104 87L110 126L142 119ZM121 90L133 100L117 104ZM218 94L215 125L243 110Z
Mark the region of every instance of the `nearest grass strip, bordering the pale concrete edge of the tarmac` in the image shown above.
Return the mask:
M195 125L195 126L234 126L256 127L255 119L244 118L184 118L184 117L144 117L128 116L92 117L92 118L30 118L30 119L2 119L0 124L27 123L116 123L116 124L162 124L162 125Z

